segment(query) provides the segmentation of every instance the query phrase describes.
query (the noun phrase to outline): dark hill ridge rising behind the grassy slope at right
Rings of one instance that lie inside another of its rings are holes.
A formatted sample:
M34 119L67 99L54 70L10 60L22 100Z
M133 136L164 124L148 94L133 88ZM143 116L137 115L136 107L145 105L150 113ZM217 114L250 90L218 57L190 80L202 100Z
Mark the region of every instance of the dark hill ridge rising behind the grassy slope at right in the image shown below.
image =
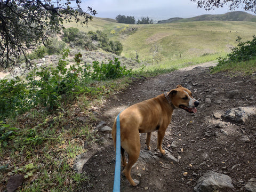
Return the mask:
M228 12L225 14L204 14L192 18L170 18L157 23L189 22L189 21L249 21L256 22L256 15L243 11Z

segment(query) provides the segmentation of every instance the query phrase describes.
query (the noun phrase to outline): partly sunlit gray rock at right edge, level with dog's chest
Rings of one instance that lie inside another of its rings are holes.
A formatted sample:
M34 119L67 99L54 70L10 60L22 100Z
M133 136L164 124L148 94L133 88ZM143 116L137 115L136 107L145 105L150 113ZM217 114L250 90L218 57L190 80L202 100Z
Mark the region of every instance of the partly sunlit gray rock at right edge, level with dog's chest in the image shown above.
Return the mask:
M254 107L238 107L227 110L226 113L221 117L230 122L245 124L248 121L249 116L255 114L256 108Z

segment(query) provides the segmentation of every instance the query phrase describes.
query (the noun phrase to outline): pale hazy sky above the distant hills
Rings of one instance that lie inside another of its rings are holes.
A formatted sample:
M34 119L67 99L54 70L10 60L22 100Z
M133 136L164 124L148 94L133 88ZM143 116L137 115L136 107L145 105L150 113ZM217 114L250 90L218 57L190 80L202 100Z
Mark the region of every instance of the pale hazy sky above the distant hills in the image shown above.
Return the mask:
M136 20L149 17L156 21L173 17L190 18L202 14L230 12L228 6L205 11L203 8L197 8L197 3L190 0L83 0L81 4L83 11L87 10L87 6L93 7L98 12L96 17L115 19L118 14L121 14L134 16Z

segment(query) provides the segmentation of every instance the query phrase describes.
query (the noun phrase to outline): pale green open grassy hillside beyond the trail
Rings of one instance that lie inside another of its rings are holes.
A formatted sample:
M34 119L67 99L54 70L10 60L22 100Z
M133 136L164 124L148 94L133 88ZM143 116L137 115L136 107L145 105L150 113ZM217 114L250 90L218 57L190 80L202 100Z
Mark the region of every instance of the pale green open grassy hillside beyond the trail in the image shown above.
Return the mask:
M74 23L67 27L80 30L103 30L110 39L119 40L124 46L122 55L135 59L136 51L141 62L154 65L149 68L183 67L216 60L237 45L236 39L252 39L255 22L198 21L154 25L126 25L101 18L94 18L88 27ZM137 30L129 34L129 29ZM141 66L141 63L138 64Z

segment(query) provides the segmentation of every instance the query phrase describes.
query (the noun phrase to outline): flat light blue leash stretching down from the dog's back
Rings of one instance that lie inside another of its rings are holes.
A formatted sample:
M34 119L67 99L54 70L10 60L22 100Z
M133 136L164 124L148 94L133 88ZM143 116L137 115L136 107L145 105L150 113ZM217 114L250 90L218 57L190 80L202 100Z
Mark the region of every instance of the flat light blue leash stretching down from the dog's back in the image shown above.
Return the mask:
M120 139L120 113L116 118L116 166L115 166L115 180L113 192L120 191L120 174L121 174L121 139Z

